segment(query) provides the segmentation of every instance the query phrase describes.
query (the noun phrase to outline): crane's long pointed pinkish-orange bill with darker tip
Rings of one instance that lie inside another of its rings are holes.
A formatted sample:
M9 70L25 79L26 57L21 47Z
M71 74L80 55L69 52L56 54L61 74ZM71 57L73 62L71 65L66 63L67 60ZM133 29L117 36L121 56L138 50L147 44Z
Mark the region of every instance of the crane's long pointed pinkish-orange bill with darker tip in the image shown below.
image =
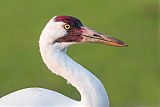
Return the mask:
M116 47L127 47L128 45L122 42L119 39L110 36L104 36L101 33L98 33L94 30L89 29L88 27L82 27L82 42L95 42L102 43L110 46Z

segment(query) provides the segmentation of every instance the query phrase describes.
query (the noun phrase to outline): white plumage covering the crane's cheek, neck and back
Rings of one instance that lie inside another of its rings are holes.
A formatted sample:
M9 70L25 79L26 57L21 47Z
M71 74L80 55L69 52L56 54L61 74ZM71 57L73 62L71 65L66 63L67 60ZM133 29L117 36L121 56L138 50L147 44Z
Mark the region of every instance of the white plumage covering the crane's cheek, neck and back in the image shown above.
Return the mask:
M53 73L62 76L80 92L81 100L76 101L48 89L27 88L0 98L0 107L109 107L108 96L101 81L66 54L68 46L80 43L80 41L54 42L58 38L67 36L68 33L64 29L66 23L56 22L55 18L52 18L42 31L39 41L40 53L43 61ZM84 30L85 27L81 26L81 28ZM91 36L93 32L95 31L90 30L90 35L88 35ZM95 34L99 33L95 32ZM88 40L88 37L83 37L81 42L88 42ZM93 38L90 41L93 42ZM113 42L116 43L114 40ZM117 44L122 45L122 42L117 42Z

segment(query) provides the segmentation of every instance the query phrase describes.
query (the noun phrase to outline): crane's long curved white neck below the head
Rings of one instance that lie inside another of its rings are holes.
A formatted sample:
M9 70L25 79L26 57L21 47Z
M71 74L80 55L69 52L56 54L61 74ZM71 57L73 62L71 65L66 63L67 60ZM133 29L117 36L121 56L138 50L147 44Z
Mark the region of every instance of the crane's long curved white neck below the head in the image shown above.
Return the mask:
M80 103L87 107L109 107L108 96L101 81L66 54L66 50L61 48L65 43L42 41L43 38L40 39L40 53L44 63L80 92Z

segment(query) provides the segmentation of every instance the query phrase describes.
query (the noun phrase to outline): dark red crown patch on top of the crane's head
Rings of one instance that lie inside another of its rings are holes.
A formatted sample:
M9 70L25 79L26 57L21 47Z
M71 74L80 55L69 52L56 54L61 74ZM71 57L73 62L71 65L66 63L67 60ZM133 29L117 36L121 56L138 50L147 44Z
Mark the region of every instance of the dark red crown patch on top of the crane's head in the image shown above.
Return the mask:
M71 25L72 28L80 28L81 26L83 26L79 19L72 16L57 16L55 17L54 21L67 23Z

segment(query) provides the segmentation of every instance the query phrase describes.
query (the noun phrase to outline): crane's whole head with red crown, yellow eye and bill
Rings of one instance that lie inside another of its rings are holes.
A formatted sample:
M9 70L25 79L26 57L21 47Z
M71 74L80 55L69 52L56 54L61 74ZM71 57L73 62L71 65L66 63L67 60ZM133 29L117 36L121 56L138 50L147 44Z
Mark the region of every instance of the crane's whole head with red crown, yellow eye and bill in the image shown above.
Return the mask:
M128 46L119 39L103 35L102 33L84 26L79 19L72 16L55 16L48 22L45 29L47 29L48 35L52 38L50 41L52 44L93 42L116 47Z

